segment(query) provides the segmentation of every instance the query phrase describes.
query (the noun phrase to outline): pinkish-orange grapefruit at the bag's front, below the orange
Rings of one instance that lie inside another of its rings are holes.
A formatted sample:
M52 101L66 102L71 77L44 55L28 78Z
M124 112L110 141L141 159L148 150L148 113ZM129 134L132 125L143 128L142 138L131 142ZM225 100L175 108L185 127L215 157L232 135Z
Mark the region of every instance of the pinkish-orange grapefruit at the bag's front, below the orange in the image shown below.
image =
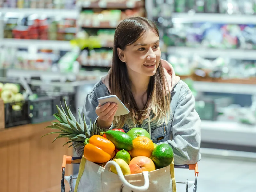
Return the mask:
M134 157L130 163L129 167L131 174L142 173L143 171L154 171L156 170L154 162L145 156Z

